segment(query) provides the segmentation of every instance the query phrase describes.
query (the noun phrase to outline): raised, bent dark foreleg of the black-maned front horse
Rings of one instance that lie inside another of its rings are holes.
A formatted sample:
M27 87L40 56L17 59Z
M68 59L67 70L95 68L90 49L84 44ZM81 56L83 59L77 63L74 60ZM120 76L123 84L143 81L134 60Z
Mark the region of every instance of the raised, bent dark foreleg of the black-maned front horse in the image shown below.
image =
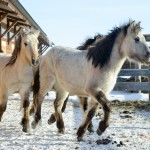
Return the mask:
M96 99L102 105L104 111L104 119L99 123L99 128L97 129L97 134L101 135L109 126L111 106L109 100L102 91L98 92Z

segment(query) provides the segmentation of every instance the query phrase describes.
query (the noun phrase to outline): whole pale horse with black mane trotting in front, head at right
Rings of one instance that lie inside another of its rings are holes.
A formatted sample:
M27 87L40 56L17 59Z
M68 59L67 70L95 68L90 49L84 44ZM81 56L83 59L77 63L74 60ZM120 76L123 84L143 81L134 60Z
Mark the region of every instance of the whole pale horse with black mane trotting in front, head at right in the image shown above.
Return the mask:
M36 128L41 120L41 105L45 94L54 88L54 116L58 132L64 133L61 109L70 94L91 97L90 107L77 130L77 140L83 140L99 105L104 112L104 118L97 129L97 134L101 135L110 124L111 105L107 97L114 88L126 59L150 64L150 49L141 32L140 22L129 21L114 27L87 51L62 46L51 48L39 66L39 86L34 92L36 111L32 128Z

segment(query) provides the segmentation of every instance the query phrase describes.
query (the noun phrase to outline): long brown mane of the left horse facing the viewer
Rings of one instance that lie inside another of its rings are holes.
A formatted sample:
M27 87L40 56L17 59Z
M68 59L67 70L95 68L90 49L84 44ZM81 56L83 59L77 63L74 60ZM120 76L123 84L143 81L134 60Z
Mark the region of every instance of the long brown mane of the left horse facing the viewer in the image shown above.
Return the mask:
M16 62L18 54L21 51L21 41L22 41L22 37L21 37L21 34L19 34L15 41L15 48L13 50L13 53L9 59L9 62L6 64L6 66L11 66Z

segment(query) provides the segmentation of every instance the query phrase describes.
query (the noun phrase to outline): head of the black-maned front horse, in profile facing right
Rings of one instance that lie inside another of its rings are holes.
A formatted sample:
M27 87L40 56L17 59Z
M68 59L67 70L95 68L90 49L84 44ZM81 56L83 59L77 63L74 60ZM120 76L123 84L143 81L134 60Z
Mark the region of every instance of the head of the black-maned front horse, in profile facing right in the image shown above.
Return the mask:
M126 30L121 52L131 60L150 64L150 49L141 33L140 22L131 22Z

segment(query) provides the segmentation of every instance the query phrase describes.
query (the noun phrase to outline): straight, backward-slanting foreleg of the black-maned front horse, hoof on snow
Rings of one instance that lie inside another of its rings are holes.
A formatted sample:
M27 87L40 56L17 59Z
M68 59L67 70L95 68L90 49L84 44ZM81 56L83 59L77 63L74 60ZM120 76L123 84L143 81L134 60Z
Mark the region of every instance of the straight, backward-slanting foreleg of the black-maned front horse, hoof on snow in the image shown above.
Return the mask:
M94 117L97 108L98 108L98 103L96 103L95 101L91 101L90 107L87 111L85 119L77 131L77 140L78 141L83 140L84 133L86 132L89 125L91 124L91 120Z

